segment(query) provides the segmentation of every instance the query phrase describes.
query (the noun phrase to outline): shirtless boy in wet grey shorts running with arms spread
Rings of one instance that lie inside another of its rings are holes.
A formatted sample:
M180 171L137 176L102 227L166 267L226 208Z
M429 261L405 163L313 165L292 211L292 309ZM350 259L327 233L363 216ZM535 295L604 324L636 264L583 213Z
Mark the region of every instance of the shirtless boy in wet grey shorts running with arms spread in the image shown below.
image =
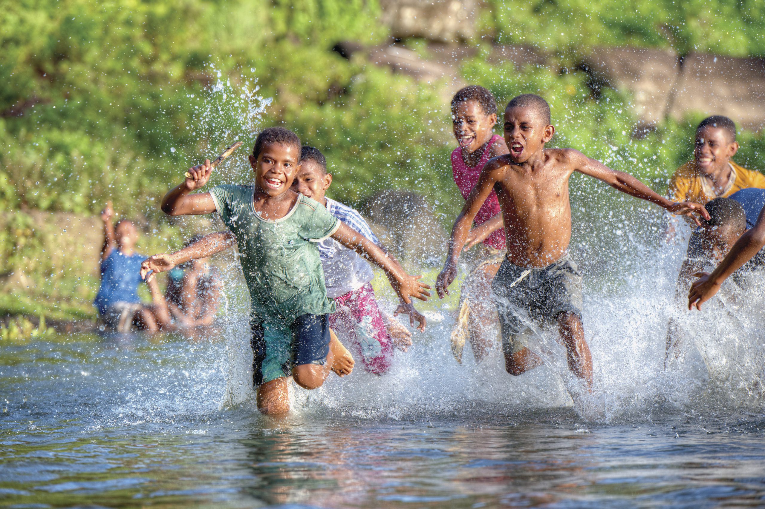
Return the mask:
M457 274L457 258L470 224L492 190L500 199L507 258L492 283L500 315L505 368L519 375L542 364L523 344L520 334L527 316L540 326L558 325L568 368L592 387L592 358L581 323L581 274L568 256L571 205L568 179L578 171L617 190L656 203L669 212L708 218L703 206L674 203L627 173L611 170L571 148L545 148L555 128L547 102L523 94L509 102L504 119L510 153L490 160L451 232L444 270L436 290L443 298ZM696 219L698 222L698 219Z

